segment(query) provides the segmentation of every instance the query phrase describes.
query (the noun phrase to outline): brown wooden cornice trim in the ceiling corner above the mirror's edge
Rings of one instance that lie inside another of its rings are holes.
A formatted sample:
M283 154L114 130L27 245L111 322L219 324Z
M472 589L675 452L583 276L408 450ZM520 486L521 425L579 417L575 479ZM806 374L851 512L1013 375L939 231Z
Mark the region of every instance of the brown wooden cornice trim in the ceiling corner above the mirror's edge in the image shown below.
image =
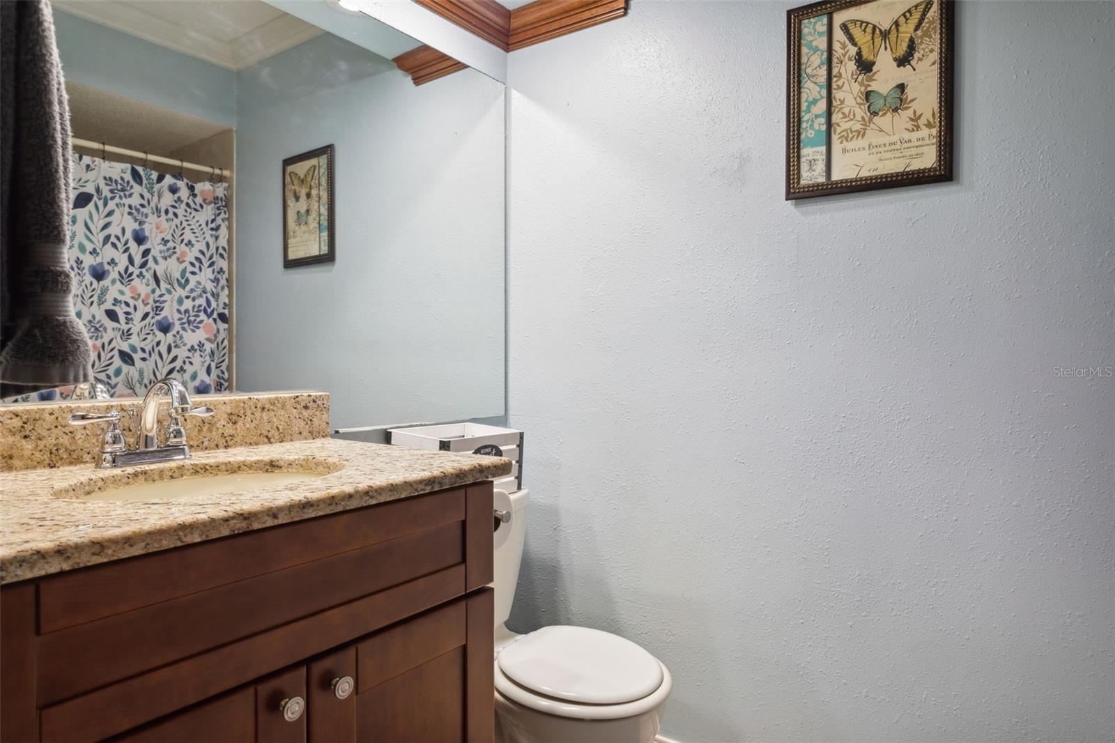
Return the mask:
M495 0L414 0L504 51L627 15L628 0L535 0L507 10Z

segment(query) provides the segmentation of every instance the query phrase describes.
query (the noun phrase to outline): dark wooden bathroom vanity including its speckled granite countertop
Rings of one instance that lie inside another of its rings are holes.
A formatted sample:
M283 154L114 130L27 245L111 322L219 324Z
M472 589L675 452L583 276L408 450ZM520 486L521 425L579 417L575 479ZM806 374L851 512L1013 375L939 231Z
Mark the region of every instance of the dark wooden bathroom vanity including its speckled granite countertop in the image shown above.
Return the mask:
M0 474L0 739L491 741L487 479L508 469L316 438Z

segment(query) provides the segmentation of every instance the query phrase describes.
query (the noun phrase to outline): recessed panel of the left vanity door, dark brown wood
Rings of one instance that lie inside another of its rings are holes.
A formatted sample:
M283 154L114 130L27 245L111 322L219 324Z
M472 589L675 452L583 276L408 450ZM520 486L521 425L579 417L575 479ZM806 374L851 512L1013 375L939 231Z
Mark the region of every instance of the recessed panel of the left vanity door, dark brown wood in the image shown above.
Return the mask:
M122 743L252 743L255 740L255 689L249 686L225 694L117 740Z

